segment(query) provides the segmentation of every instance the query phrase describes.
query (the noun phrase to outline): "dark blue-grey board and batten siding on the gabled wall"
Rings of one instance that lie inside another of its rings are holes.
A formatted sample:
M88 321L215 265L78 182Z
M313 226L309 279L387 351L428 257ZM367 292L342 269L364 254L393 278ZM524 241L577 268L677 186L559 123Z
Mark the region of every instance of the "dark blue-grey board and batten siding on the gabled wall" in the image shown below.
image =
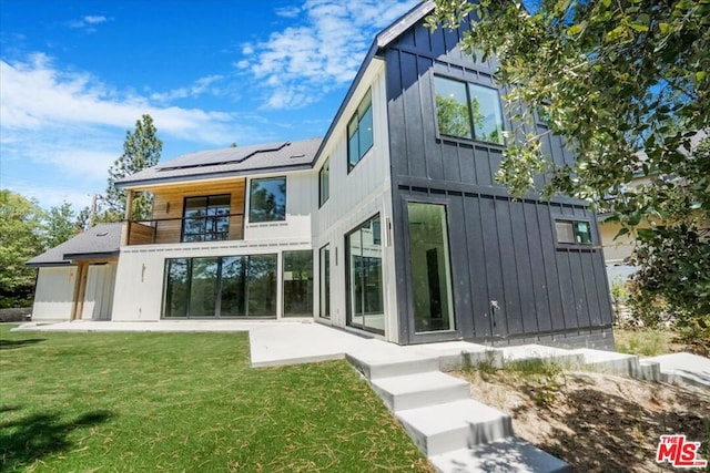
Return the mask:
M437 136L434 73L495 86L494 63L474 62L457 44L462 30L430 33L422 23L383 52L393 178L399 340L404 343L465 339L506 341L580 333L611 325L604 257L597 248L562 248L555 217L595 215L571 198L515 200L495 182L503 147ZM507 121L508 119L506 119ZM544 125L540 124L540 131ZM509 128L509 122L506 122ZM546 135L556 164L574 156ZM457 331L417 336L413 326L407 202L445 203L449 225L452 285ZM491 301L497 310L491 311ZM565 340L574 337L565 336ZM579 345L584 337L575 338Z

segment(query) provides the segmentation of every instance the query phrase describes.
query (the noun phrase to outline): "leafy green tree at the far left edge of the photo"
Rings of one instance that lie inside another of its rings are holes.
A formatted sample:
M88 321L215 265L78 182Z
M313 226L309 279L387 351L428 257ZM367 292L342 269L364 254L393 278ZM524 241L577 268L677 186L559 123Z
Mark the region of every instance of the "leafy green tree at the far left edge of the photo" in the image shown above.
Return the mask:
M37 202L0 191L0 307L30 304L36 270L24 264L44 249L43 217Z

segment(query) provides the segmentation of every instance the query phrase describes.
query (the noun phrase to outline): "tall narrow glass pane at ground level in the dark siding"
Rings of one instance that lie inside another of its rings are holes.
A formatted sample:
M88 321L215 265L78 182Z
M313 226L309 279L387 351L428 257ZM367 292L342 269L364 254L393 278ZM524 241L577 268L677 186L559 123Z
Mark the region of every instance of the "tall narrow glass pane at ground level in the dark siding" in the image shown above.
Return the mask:
M454 330L446 207L410 202L407 213L415 331Z

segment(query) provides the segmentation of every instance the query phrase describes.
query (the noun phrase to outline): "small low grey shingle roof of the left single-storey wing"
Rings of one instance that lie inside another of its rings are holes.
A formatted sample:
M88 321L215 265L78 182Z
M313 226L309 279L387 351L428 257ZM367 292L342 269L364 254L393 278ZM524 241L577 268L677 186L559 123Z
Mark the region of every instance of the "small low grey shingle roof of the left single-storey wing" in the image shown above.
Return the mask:
M72 259L116 256L121 246L121 223L99 224L30 259L26 266L68 266Z

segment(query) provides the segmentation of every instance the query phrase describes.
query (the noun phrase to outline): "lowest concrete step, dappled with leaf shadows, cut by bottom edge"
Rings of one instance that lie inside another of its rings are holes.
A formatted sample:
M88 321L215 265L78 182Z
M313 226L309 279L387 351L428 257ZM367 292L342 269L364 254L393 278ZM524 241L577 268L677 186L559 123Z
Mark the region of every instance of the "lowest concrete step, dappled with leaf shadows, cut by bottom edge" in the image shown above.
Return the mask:
M508 438L471 449L455 450L430 456L442 473L520 472L567 473L572 469L564 461L516 438Z

